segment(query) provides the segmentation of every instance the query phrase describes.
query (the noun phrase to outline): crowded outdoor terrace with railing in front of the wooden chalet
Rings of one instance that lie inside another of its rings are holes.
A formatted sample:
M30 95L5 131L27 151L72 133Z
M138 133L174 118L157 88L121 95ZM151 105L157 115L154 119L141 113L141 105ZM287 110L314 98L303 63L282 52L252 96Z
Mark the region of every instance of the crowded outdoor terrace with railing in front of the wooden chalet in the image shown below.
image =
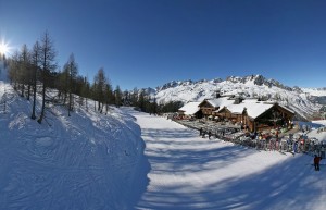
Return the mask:
M198 131L202 138L208 137L210 140L220 139L258 150L274 150L292 155L304 152L313 156L317 153L326 158L326 144L316 138L308 138L306 134L310 131L302 133L298 125L289 131L265 129L260 133L250 133L231 122L212 120L175 120L175 122ZM322 128L319 131L324 132Z

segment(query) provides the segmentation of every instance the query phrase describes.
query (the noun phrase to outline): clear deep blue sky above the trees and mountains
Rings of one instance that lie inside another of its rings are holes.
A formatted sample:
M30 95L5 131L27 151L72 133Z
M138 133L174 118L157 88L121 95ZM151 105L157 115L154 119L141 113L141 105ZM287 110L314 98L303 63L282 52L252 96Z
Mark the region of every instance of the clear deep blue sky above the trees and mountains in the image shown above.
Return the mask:
M262 74L326 87L324 0L0 0L0 39L32 47L48 30L60 66L73 52L113 87Z

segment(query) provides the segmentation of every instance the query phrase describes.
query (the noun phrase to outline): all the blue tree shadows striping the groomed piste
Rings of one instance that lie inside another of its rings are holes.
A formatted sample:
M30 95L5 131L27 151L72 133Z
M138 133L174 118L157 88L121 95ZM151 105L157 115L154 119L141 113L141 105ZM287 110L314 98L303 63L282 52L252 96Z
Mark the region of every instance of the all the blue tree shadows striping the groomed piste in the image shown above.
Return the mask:
M201 141L200 137L192 141L187 140L187 137L193 138L196 135L191 132L180 133L179 129L142 131L142 136L149 138L147 144L156 144L147 155L152 166L155 165L151 170L159 174L202 172L214 176L214 170L260 152L228 144L203 149L200 148L202 144L214 141ZM174 147L168 147L171 145ZM193 145L199 148L187 148ZM321 196L326 188L319 186L318 175L323 173L313 171L311 159L305 155L296 158L289 156L286 161L253 174L227 175L215 183L209 181L203 188L185 182L174 186L161 186L160 190L149 194L147 200L141 200L136 209L314 209L314 202L321 202ZM323 183L325 184L324 181Z

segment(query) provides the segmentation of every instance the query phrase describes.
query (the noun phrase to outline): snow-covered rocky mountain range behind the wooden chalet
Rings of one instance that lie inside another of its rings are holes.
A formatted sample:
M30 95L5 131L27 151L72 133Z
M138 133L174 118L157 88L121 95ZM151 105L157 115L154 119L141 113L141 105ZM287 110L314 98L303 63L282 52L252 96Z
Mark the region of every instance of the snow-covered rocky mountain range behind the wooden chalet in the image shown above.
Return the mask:
M226 79L215 78L198 82L173 81L152 89L151 92L158 102L163 103L168 101L201 101L206 98L214 98L216 92L244 98L256 97L277 101L291 108L298 115L308 119L317 112L322 104L326 104L326 88L289 87L262 75L229 76Z

